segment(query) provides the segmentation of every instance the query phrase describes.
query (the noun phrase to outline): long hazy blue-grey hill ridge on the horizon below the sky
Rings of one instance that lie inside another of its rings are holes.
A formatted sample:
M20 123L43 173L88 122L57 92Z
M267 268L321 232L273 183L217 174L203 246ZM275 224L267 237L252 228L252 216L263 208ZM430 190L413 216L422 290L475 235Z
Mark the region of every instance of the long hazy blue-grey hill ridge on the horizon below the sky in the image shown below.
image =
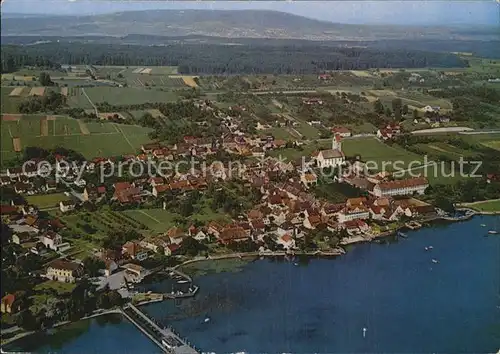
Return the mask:
M2 16L2 36L211 36L307 40L496 39L493 28L345 25L267 10L156 10L96 16Z

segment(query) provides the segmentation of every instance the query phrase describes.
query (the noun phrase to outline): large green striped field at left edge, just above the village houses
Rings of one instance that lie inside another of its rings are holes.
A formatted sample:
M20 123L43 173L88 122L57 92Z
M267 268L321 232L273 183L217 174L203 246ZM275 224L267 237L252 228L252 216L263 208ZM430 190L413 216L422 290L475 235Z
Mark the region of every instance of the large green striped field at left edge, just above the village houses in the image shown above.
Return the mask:
M82 153L86 158L136 153L150 141L150 129L115 123L85 123L76 119L40 115L11 116L16 120L1 121L1 156L16 156L14 139L22 149L27 146L55 148L63 146Z

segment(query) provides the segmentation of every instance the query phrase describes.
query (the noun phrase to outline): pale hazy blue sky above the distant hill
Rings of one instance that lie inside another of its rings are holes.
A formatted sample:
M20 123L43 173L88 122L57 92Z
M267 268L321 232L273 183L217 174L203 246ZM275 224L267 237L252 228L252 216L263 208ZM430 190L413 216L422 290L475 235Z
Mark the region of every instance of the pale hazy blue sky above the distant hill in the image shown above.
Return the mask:
M150 9L270 9L340 23L498 25L498 1L106 1L4 0L2 12L98 14Z

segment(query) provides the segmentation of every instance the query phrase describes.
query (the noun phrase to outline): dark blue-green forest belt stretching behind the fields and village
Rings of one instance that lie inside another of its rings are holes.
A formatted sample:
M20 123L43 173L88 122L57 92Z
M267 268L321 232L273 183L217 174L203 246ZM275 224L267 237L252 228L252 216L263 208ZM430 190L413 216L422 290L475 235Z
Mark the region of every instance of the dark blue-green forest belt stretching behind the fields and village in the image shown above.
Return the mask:
M416 50L309 45L2 45L2 73L61 64L178 66L182 74L315 74L325 70L466 67L457 55Z

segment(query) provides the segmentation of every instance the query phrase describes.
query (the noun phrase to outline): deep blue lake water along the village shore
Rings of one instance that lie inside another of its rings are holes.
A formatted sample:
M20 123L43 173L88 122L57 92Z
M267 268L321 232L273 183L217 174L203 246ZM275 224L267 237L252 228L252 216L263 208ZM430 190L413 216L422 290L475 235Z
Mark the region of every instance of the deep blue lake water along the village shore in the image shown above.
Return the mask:
M408 232L336 259L255 261L195 278L201 289L193 299L144 310L206 352L496 352L500 236L484 237L480 225L498 219ZM104 340L101 352L157 351L131 326L91 324L60 348L95 352Z

